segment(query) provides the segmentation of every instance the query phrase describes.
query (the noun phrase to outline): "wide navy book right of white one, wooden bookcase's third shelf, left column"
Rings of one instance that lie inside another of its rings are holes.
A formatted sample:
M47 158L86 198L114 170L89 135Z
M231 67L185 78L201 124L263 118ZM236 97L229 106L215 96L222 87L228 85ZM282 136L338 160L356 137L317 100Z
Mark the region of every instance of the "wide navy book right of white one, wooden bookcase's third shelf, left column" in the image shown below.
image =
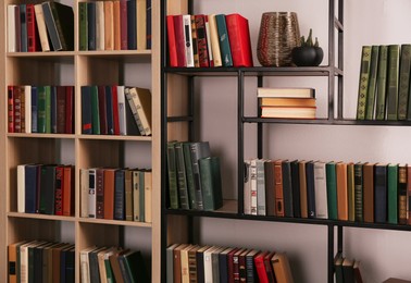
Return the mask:
M37 212L37 185L38 185L38 164L27 164L24 168L24 185L25 185L25 212Z

